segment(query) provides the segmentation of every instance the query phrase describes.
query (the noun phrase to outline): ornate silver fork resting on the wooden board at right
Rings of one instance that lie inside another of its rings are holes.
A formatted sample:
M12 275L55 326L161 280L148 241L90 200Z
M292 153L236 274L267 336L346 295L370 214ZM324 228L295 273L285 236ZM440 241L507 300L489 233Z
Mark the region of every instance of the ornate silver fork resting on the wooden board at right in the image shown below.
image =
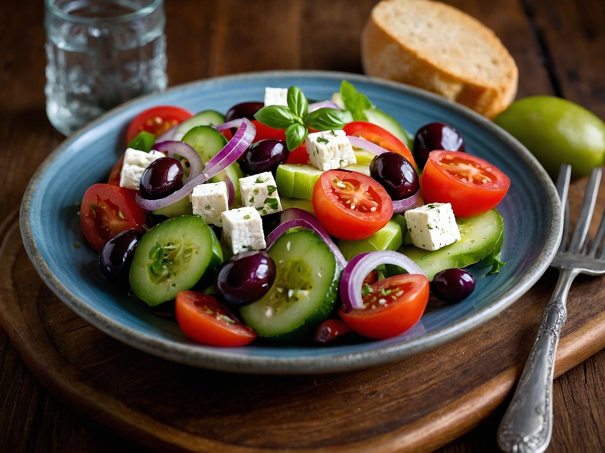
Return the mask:
M552 435L552 377L561 327L567 320L567 293L578 274L605 274L605 215L597 235L587 239L590 219L597 203L601 169L590 173L584 200L571 239L569 236L569 178L571 167L561 165L557 190L561 198L563 237L551 266L559 278L551 301L542 312L538 335L517 384L511 404L500 422L497 440L505 452L543 452Z

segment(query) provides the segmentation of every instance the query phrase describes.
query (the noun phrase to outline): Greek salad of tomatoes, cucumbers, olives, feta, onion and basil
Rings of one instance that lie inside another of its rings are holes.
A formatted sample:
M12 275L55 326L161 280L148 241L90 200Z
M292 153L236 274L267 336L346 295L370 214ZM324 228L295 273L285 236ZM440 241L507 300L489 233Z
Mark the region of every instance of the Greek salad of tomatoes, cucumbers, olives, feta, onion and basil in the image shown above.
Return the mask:
M431 294L473 292L466 266L497 273L509 185L454 127L410 135L343 80L330 100L141 112L80 221L106 279L195 341L327 344L399 335Z

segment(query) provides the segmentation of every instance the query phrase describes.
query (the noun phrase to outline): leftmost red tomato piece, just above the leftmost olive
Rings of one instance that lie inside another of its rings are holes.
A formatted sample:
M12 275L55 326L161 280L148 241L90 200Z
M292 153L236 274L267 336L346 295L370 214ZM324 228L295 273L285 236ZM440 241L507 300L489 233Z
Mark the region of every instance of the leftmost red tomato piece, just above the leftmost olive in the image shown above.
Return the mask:
M125 230L145 232L145 211L134 199L136 191L110 184L88 188L80 205L80 224L88 243L99 252Z

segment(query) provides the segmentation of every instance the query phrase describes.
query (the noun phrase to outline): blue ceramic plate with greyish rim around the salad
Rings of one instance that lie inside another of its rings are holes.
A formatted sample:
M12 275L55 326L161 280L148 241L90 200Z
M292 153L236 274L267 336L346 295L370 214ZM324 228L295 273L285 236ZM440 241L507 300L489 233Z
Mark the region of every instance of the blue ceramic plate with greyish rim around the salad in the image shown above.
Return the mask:
M262 100L265 86L299 86L307 97L328 99L347 79L380 109L415 132L433 121L450 123L462 133L466 150L488 159L511 178L499 205L505 220L497 275L473 269L471 297L425 313L404 335L384 341L315 347L250 344L221 349L189 341L174 321L148 312L106 283L97 254L80 231L74 204L87 188L106 181L124 149L125 128L143 109L174 104L191 111L226 112L242 101ZM27 187L21 207L25 248L52 291L78 315L132 347L184 364L242 373L325 373L402 359L485 324L510 306L548 267L561 235L560 204L551 179L517 141L491 121L428 92L397 83L338 72L260 72L219 77L177 86L131 101L64 141L44 161ZM79 247L77 246L79 245Z

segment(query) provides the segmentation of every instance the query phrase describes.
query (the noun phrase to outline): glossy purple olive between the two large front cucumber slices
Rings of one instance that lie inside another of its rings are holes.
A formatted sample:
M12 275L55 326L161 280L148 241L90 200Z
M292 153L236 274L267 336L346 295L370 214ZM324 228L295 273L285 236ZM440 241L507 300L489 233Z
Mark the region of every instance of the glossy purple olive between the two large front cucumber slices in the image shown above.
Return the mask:
M266 252L242 252L218 269L215 289L225 303L241 307L263 297L274 280L275 262Z

